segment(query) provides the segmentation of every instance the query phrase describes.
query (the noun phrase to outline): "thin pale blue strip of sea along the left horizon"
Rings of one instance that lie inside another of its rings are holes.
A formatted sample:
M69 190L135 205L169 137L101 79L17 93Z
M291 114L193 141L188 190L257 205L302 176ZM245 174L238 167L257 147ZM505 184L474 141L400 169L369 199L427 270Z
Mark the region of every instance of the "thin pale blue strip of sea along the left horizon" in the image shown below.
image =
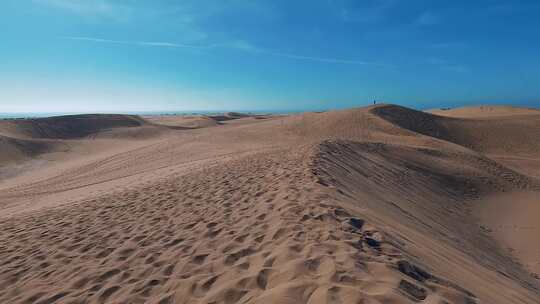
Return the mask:
M1 113L0 119L13 119L13 118L40 118L40 117L51 117L51 116L62 116L62 115L78 115L78 114L130 114L130 115L217 115L227 112L237 112L244 114L294 114L300 113L303 111L147 111L147 112L21 112L21 113Z

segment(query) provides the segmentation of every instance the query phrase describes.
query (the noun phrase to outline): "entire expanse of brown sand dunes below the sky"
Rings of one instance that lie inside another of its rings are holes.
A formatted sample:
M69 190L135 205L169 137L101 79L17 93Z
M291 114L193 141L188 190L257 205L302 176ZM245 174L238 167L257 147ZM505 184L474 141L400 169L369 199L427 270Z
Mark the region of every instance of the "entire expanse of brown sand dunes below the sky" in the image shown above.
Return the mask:
M0 303L539 303L540 114L475 111L2 121Z

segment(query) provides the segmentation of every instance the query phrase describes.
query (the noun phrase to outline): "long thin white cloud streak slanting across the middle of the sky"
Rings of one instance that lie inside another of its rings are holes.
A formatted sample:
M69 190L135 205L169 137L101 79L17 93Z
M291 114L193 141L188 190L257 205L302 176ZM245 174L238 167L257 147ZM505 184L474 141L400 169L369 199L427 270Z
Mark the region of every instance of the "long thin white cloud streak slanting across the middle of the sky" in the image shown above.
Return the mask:
M303 61L313 61L320 63L333 63L333 64L350 64L350 65L375 65L375 66L386 66L388 64L368 62L361 60L351 60L343 58L328 58L328 57L314 57L314 56L305 56L300 54L291 54L283 53L275 50L259 48L253 46L245 41L234 41L230 43L216 43L216 44L183 44L183 43L172 43L172 42L156 42L156 41L129 41L129 40L111 40L111 39L102 39L94 37L76 37L76 36L67 36L62 37L67 40L76 40L76 41L86 41L93 43L107 43L107 44L120 44L120 45L132 45L139 47L162 47L162 48L185 48L185 49L217 49L217 48L226 48L234 49L238 51L258 53L274 57L282 57L293 60L303 60Z

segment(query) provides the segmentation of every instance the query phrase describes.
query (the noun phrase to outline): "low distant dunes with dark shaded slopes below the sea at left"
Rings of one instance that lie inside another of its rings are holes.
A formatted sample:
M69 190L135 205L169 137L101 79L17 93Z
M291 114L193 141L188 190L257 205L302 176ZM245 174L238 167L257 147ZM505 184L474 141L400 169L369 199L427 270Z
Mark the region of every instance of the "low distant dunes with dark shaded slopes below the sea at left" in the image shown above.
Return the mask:
M242 114L220 116L149 116L90 114L50 118L0 120L0 164L34 158L40 154L66 151L65 140L100 138L145 139L170 129L216 126L220 121L241 118ZM156 123L154 123L154 120ZM71 142L71 145L77 145Z

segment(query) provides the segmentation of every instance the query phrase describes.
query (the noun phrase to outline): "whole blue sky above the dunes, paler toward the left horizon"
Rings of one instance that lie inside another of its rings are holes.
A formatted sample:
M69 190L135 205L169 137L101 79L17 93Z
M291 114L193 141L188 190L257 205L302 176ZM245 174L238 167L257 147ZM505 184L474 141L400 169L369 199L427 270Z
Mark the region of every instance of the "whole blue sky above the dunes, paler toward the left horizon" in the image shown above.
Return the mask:
M540 106L540 2L3 0L0 112Z

